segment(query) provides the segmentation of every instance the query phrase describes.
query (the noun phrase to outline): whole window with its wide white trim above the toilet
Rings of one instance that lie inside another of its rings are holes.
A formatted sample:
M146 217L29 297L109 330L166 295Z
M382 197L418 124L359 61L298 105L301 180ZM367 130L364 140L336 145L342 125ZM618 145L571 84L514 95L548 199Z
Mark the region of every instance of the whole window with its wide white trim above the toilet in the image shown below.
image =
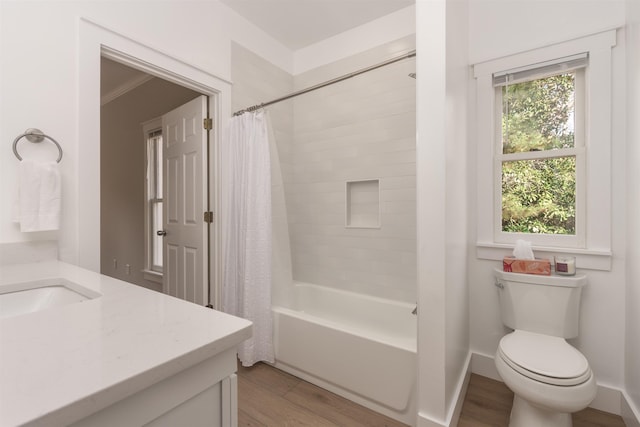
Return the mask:
M610 269L615 40L607 31L474 65L479 258L525 239L540 256Z

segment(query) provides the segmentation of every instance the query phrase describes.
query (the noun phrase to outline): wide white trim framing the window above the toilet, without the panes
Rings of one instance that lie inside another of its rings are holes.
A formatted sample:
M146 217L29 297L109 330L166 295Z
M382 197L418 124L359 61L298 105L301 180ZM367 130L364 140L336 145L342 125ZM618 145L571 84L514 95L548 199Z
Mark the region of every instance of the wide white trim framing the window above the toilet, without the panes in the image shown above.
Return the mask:
M585 177L588 189L584 198L584 242L563 244L555 241L534 242L536 256L550 258L554 254L572 254L579 268L611 269L611 50L616 45L616 30L609 30L531 51L510 55L473 66L476 79L476 135L477 135L477 242L480 259L500 260L510 255L513 244L496 241L497 209L494 188L495 89L493 74L527 67L558 58L587 53L589 66L585 70L585 135L587 152ZM580 177L577 183L580 185ZM576 218L578 220L578 218ZM529 235L525 235L529 237ZM535 240L533 237L527 240ZM548 236L545 236L548 237Z

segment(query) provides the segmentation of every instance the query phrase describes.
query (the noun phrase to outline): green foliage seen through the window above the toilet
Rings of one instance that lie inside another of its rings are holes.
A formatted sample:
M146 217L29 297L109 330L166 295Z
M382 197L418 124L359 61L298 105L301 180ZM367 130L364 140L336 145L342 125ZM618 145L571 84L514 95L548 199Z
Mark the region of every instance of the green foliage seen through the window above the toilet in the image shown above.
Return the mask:
M502 88L503 154L574 147L575 74ZM502 230L575 234L574 156L502 163Z

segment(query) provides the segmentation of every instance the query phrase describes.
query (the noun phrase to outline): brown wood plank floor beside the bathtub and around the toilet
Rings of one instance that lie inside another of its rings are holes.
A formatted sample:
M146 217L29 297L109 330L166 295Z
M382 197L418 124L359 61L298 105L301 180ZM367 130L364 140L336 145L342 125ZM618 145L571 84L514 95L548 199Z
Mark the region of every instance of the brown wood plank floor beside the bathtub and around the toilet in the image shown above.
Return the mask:
M458 427L506 427L513 393L501 382L471 375ZM406 427L299 378L258 363L238 366L239 427ZM624 427L622 418L587 408L574 427Z

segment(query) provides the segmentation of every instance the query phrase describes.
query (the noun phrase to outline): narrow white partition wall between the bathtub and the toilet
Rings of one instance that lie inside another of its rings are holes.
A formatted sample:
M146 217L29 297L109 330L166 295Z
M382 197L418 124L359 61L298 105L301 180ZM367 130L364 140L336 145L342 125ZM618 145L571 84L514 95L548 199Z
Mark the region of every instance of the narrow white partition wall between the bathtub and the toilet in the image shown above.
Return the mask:
M418 425L456 425L469 356L468 2L417 3Z

